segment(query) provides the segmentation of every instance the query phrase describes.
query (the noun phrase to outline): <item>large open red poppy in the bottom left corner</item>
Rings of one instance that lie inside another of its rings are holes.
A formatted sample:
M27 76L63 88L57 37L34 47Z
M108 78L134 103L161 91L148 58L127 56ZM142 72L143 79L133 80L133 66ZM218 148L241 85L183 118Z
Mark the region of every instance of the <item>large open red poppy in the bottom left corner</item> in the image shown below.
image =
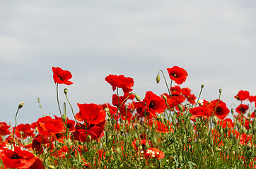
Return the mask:
M14 151L6 149L1 151L1 160L6 168L30 168L35 162L34 154L14 146Z

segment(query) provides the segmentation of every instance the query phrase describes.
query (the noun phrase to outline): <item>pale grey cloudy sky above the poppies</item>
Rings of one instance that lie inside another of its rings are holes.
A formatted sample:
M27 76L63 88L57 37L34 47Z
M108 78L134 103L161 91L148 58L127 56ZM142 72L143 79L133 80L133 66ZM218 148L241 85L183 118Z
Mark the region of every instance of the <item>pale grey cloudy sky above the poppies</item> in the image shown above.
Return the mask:
M202 99L221 100L228 108L241 89L256 95L256 1L1 1L0 113L15 124L59 115L52 67L69 70L74 82L69 99L77 103L111 101L109 74L134 78L134 92L167 92L156 75L178 65ZM68 109L68 117L71 111Z

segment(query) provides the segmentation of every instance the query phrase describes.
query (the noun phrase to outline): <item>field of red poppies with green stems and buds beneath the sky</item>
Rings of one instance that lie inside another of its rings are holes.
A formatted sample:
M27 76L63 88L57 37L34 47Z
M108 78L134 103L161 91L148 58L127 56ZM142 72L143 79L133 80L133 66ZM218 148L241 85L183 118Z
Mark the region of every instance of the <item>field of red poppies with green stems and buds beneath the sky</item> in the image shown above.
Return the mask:
M107 75L112 103L81 101L74 112L68 89L58 89L71 87L71 72L52 73L59 112L31 124L0 122L0 168L256 168L256 96L246 90L234 96L236 108L221 100L221 89L207 101L204 84L198 96L179 86L188 73L175 65L168 76L156 73L166 93L138 96L132 77Z

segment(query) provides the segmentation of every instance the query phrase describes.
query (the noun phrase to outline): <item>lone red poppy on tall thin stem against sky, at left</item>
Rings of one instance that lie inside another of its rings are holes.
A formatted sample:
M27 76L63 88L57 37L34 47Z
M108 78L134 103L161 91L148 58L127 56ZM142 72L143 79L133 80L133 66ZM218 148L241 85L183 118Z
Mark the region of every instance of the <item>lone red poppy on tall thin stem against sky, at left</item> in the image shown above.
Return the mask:
M54 68L52 67L53 72L53 80L55 83L59 84L73 84L73 82L69 81L72 77L71 73L68 70L62 70L62 68Z

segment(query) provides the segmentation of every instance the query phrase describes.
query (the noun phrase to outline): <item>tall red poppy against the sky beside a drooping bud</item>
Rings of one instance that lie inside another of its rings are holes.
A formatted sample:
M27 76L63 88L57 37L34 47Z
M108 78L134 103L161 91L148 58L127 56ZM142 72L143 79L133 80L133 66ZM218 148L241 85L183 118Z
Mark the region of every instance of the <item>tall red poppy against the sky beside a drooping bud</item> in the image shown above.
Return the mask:
M167 68L170 79L173 80L177 84L182 84L187 79L187 71L178 66L173 66L173 68Z

